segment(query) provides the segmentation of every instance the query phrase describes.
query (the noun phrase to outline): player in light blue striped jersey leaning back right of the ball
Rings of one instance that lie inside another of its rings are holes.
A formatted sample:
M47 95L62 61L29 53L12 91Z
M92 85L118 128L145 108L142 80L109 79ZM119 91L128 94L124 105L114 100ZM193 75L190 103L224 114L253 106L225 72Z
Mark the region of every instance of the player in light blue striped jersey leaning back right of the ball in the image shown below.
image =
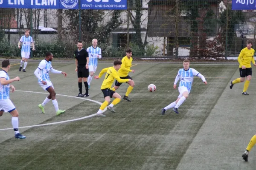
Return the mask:
M200 77L203 80L204 84L207 85L207 81L205 80L205 78L202 74L200 74L194 68L189 68L189 60L188 59L185 59L183 61L183 67L184 68L181 68L178 71L178 74L175 78L175 82L173 85L173 88L176 89L176 84L180 79L179 88L178 88L180 95L178 96L178 98L175 102L172 102L170 105L166 106L165 108L162 108L162 114L165 114L165 111L168 109L171 109L171 108L173 111L175 111L175 113L179 113L178 108L180 107L180 105L182 105L182 103L189 96L189 93L192 88L194 76Z

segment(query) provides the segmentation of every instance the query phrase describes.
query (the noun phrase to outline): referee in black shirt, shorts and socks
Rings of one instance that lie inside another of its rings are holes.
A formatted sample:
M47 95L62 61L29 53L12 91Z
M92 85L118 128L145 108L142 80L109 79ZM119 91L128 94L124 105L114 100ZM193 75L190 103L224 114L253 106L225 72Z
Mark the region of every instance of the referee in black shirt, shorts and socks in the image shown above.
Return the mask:
M83 43L81 41L77 42L77 50L75 51L75 57L76 57L76 72L78 77L78 88L79 88L79 94L77 97L88 97L89 96L89 90L88 90L88 83L87 78L89 77L89 54L86 51L86 49L82 48ZM82 88L83 84L82 81L84 81L85 86L85 94L82 94Z

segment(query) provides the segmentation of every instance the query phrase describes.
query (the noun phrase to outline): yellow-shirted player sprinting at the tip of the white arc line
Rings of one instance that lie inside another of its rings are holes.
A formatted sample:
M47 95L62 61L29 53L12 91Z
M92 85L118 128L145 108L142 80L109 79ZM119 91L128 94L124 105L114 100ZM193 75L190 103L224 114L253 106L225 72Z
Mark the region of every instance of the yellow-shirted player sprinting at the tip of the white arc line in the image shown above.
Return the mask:
M115 60L113 67L104 68L99 73L99 76L94 76L94 79L99 79L100 77L102 77L102 75L105 72L107 72L106 75L105 75L105 79L102 82L102 86L100 88L103 92L105 102L103 102L102 105L100 106L99 111L97 112L98 116L104 116L105 117L105 115L102 114L103 110L108 106L108 104L110 103L110 99L112 97L114 97L115 99L113 100L113 102L107 108L111 112L116 113L116 111L113 109L113 106L116 105L117 103L119 103L122 97L118 93L116 93L115 91L112 91L110 89L111 85L114 82L114 79L118 80L119 82L130 82L131 81L131 79L120 79L120 77L118 76L117 71L119 70L121 65L122 65L122 61Z

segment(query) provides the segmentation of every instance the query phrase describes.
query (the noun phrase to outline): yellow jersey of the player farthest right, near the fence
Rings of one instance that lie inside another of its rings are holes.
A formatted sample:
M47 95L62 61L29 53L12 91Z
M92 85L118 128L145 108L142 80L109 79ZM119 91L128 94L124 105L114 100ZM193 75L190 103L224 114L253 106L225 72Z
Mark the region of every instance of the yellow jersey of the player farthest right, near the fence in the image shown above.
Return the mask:
M246 68L251 68L250 62L253 62L253 64L255 64L253 56L254 56L253 48L250 48L250 50L247 47L242 49L238 57L239 68L241 68L242 65L244 65Z

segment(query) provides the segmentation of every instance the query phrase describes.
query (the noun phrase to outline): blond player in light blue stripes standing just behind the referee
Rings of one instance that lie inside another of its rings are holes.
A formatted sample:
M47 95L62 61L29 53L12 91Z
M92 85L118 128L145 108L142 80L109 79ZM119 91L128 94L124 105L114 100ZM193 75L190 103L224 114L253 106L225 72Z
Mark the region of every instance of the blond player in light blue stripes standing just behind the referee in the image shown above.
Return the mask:
M90 88L90 82L93 79L93 74L96 72L98 66L98 59L102 58L101 48L97 46L98 40L92 40L93 45L87 48L87 52L89 53L89 71L90 75L88 77L88 85Z

